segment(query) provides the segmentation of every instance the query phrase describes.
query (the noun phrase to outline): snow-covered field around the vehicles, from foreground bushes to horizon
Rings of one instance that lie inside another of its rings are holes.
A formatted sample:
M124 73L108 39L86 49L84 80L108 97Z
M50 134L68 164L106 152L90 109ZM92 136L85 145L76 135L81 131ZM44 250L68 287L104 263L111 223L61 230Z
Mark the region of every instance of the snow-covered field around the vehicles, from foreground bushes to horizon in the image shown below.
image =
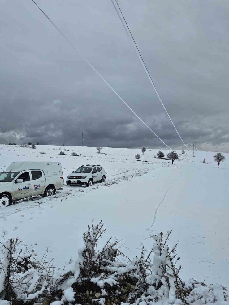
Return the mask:
M16 203L0 209L0 242L19 237L21 245L35 248L63 267L77 257L82 234L94 218L107 227L106 237L123 239L121 251L129 257L140 253L141 245L151 249L149 235L173 229L171 245L179 240L177 253L183 269L181 277L194 277L206 283L229 287L229 154L226 161L214 163L214 152L192 151L179 160L155 159L158 150L61 146L37 149L0 145L0 170L13 161L59 161L67 174L82 164L101 164L109 186L89 188L64 186L53 197ZM40 154L40 152L46 154ZM72 157L71 152L79 157ZM162 150L167 155L168 150ZM135 154L141 155L138 162ZM203 164L203 159L207 164ZM117 182L112 184L113 182ZM0 258L2 253L0 253Z

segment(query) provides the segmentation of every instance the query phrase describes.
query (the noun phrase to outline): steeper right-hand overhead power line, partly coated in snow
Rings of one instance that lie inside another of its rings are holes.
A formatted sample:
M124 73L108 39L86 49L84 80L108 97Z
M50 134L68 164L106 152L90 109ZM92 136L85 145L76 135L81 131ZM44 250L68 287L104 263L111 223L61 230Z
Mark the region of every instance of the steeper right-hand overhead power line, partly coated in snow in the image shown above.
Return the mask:
M182 140L182 138L181 138L179 132L177 131L175 125L173 124L173 121L172 121L170 115L168 114L168 112L167 112L167 110L166 110L166 108L165 108L165 105L163 104L163 102L162 102L162 100L161 100L161 98L160 98L160 96L159 96L159 94L158 94L158 91L157 91L157 89L156 89L156 87L155 87L155 85L154 85L154 83L153 83L153 80L152 80L152 78L151 78L151 76L150 76L150 74L149 74L149 71L148 71L148 69L147 69L147 67L146 67L146 65L145 65L145 62L144 62L144 60L143 60L143 58L142 58L142 56L141 56L141 53L140 53L140 51L139 51L139 49L138 49L138 47L137 47L137 45L136 45L136 42L135 42L135 40L134 40L134 37L133 37L132 34L131 34L131 31L130 31L128 25L127 25L127 22L126 22L126 20L125 20L125 18L124 18L124 16L123 16L123 13L122 13L122 11L121 11L121 9L120 9L120 7L119 7L119 4L118 4L117 0L111 0L111 2L112 2L112 4L113 4L113 6L115 7L115 11L117 12L117 14L118 14L118 16L119 16L119 18L120 18L120 20L121 20L121 22L122 22L122 24L123 24L125 30L126 30L128 36L130 37L130 40L132 41L132 43L133 43L133 45L134 45L134 48L135 48L135 50L136 50L136 52L137 52L137 55L138 55L138 57L139 57L139 59L140 59L140 62L141 62L141 64L142 64L143 68L145 69L145 72L146 72L146 74L147 74L147 76L148 76L148 78L149 78L149 80L150 80L150 83L152 84L154 90L156 91L156 93L157 93L157 95L158 95L158 98L159 98L159 100L160 100L160 102L161 102L163 108L165 109L165 111L166 111L166 113L167 113L167 116L169 117L169 119L170 119L170 121L171 121L173 127L175 128L177 134L179 135L181 141L184 143L184 141ZM118 7L115 5L115 2L116 2L116 4L117 4ZM121 13L121 14L120 14L120 13ZM185 143L184 143L184 146L188 149L188 147L185 145Z

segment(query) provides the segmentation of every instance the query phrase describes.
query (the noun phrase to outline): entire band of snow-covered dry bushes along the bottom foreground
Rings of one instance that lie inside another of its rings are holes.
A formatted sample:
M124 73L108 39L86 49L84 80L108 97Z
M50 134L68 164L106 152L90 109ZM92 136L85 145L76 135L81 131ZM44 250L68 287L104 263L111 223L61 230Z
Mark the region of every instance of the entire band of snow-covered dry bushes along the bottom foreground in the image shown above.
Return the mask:
M18 239L9 239L1 245L0 301L11 300L12 305L229 303L229 292L223 286L180 279L177 244L168 246L172 230L150 236L152 249L146 254L142 247L134 259L120 252L119 242L111 238L98 248L105 230L102 221L97 225L92 221L83 235L78 258L70 260L65 270L45 261L47 251L39 261L33 251L17 249Z

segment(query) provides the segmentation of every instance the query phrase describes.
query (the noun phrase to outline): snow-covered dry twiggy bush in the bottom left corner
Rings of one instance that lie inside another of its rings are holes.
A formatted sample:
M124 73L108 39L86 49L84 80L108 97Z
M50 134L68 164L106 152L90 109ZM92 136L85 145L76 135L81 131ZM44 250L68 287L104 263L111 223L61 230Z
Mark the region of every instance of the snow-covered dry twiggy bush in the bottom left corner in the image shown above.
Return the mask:
M12 304L33 304L34 300L44 299L52 293L56 295L56 287L70 278L68 272L58 276L58 268L53 267L53 260L46 262L47 250L41 261L34 251L28 248L24 252L17 249L18 238L9 239L3 244L4 259L0 261L0 300L13 300ZM54 274L55 279L54 279ZM1 303L1 302L0 302Z

